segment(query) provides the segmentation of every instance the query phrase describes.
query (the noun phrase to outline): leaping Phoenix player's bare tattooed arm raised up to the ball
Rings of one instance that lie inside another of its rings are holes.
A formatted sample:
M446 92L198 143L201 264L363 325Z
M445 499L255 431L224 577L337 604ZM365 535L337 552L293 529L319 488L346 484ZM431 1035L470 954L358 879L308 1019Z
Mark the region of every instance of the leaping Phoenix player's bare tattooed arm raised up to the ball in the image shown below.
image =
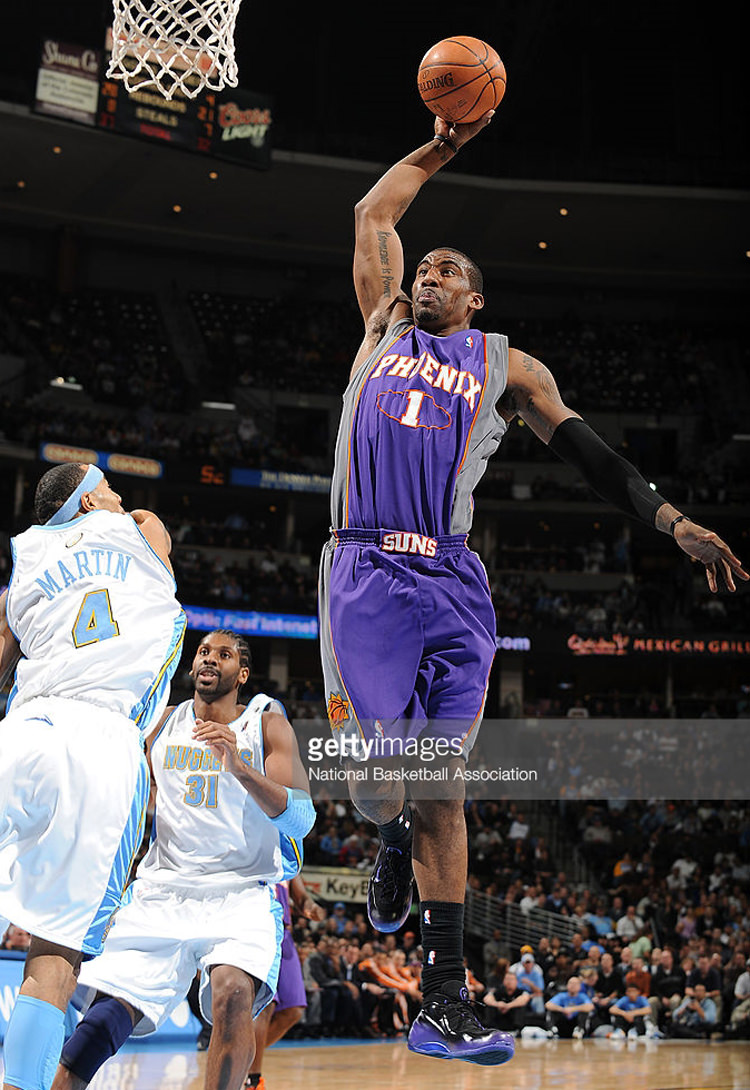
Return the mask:
M493 110L470 125L448 125L435 118L435 136L406 156L375 183L354 208L354 290L365 323L365 338L353 371L378 340L411 307L401 290L403 246L396 231L422 186L458 149L492 120Z

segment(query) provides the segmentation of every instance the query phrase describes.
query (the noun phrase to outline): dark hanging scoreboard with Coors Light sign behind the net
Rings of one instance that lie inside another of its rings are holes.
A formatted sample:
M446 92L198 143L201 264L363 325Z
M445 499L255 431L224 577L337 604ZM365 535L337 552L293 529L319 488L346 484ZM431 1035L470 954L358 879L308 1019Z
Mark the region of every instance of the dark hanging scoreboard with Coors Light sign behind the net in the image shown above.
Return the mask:
M45 39L35 110L109 132L171 144L261 170L270 166L273 101L242 87L167 100L157 90L128 93L104 73L107 50Z

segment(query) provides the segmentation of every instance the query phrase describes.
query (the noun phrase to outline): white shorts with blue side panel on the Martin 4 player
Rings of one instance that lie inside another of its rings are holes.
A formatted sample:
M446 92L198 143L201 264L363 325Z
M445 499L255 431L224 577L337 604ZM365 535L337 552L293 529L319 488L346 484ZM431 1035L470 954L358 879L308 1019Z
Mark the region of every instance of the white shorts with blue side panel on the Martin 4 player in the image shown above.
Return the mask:
M148 766L135 725L37 697L0 723L0 913L100 953L143 838Z

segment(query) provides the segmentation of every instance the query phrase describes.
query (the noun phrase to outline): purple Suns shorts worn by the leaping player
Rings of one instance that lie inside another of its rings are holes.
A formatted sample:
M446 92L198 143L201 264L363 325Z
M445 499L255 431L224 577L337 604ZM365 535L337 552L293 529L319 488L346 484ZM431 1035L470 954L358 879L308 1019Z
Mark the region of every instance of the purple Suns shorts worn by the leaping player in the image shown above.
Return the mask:
M462 740L495 657L487 576L465 535L336 531L320 564L320 646L334 730Z

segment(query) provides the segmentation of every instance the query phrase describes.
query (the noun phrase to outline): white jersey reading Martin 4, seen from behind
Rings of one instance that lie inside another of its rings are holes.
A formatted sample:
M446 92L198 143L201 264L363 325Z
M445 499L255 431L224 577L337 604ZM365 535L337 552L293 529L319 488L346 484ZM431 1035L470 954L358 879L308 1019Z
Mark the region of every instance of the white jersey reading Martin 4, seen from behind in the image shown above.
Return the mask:
M8 622L23 658L9 707L99 704L142 730L164 707L185 615L174 578L129 514L89 511L12 541Z

